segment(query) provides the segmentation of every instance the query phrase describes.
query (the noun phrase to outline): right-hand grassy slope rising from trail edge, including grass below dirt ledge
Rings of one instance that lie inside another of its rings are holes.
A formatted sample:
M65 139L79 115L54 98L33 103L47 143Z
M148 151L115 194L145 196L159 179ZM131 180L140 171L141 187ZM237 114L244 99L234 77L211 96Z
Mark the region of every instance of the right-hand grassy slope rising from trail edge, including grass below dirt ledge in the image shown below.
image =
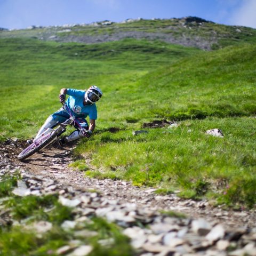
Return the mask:
M81 143L77 154L90 155L92 164L101 167L87 173L133 180L159 191L178 188L185 197L207 195L253 206L255 50L244 45L198 53L141 77L131 94L125 88L118 91L119 101L103 118L114 113L115 121L126 121L130 132L105 132ZM131 130L150 118L183 122L178 128L149 129L149 134L133 137ZM205 134L214 128L225 137Z

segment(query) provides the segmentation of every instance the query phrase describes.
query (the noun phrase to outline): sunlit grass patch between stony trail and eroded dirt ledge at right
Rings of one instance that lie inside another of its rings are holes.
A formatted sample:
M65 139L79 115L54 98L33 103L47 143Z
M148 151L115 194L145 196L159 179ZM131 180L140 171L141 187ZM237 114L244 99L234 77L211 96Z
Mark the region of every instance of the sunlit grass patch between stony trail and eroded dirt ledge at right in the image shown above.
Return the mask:
M103 132L79 144L76 152L93 152L92 165L106 170L87 171L91 177L126 179L134 185L161 187L166 192L177 188L186 198L211 198L215 191L215 197L225 198L229 204L239 202L252 207L254 125L255 118L251 117L212 117L185 121L177 128L151 129L137 136L131 130ZM220 128L225 137L205 134L213 128ZM230 193L225 193L226 186ZM236 196L231 197L231 191Z

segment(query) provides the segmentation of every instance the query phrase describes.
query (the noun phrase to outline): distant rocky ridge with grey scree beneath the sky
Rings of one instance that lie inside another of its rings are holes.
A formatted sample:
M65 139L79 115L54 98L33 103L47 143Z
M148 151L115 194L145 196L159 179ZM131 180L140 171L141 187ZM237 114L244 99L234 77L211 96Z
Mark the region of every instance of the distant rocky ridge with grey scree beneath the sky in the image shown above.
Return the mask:
M1 30L1 29L0 29ZM227 26L198 17L172 19L104 20L90 24L31 26L20 30L1 30L0 38L30 37L43 41L85 44L121 41L125 38L159 40L210 51L239 43L256 41L256 29Z

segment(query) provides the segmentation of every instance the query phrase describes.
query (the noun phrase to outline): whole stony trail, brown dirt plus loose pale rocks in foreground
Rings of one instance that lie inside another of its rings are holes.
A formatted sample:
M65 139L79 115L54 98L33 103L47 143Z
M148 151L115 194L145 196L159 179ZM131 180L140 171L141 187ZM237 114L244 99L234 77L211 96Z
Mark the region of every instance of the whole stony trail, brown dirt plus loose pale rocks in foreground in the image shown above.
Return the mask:
M0 174L21 170L16 195L58 193L63 205L75 207L75 221L63 227L74 227L76 221L92 215L114 221L131 238L136 255L256 255L255 210L227 211L207 201L157 195L155 188L139 188L127 181L87 178L68 166L75 145L53 145L20 162L16 157L24 146L18 140L2 143ZM179 218L179 213L186 218Z

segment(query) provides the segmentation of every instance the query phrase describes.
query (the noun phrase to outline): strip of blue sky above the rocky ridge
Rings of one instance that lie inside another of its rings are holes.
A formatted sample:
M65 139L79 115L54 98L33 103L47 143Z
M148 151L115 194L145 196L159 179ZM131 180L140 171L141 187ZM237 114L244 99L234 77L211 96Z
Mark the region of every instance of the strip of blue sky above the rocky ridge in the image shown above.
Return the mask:
M256 28L256 0L0 0L0 27L197 16Z

